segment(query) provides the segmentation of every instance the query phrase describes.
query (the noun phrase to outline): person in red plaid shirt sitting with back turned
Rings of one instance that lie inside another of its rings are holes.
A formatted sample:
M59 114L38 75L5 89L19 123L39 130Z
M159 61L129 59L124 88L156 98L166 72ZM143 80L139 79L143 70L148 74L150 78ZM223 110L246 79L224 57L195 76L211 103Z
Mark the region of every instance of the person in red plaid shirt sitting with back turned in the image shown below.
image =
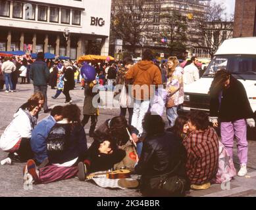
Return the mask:
M183 140L187 151L186 173L190 188L204 190L218 171L218 135L209 127L208 116L202 111L190 113L190 135Z

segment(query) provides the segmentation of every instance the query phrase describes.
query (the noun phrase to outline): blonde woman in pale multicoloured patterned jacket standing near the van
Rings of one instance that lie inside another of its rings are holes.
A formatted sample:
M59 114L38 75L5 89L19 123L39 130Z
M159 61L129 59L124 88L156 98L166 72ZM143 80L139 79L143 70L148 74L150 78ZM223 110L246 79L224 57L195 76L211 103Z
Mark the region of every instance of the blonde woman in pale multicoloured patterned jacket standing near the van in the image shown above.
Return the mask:
M166 116L170 127L178 117L177 109L184 102L183 75L178 67L178 58L171 56L167 61Z

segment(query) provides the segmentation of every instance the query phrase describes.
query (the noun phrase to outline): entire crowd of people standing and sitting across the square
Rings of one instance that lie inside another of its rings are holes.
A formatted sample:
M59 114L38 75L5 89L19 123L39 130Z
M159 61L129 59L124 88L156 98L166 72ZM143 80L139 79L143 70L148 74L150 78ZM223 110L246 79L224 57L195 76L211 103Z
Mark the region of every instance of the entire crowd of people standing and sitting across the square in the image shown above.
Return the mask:
M247 125L255 127L255 121L242 83L226 70L218 70L209 89L210 114L195 110L182 115L178 110L184 102L184 85L199 79L198 59L192 57L184 68L176 56L161 66L152 60L152 52L145 50L138 64L131 58L118 64L95 64L95 77L89 80L82 74L83 64L47 63L43 53L38 53L33 63L24 58L18 70L22 83L27 75L33 81L34 95L18 108L1 135L0 148L8 152L2 162L26 161L26 184L76 176L85 180L86 175L97 171L129 169L140 175L140 180L118 182L122 187L138 187L143 196L184 196L190 188L207 189L211 183L228 182L236 176L232 153L236 136L238 176L245 176L246 129ZM16 69L10 58L1 64L7 92L14 91L11 74ZM76 82L84 90L82 112L72 104L69 94ZM48 85L57 87L52 98L61 93L66 96L65 106L48 108ZM99 108L93 98L99 92L93 91L95 85L120 94L120 116L97 128ZM37 124L41 108L51 114ZM168 125L162 117L165 109ZM84 126L90 118L93 143L88 148ZM215 131L218 124L221 140Z

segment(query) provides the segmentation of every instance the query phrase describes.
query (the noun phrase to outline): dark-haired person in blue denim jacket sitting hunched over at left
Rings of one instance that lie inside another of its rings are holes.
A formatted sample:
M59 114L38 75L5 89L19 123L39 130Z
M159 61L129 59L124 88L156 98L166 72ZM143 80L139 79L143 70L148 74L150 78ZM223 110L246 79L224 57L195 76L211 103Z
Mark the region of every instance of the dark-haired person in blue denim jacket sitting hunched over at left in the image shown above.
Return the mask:
M34 131L32 131L30 145L39 164L48 158L46 139L53 125L63 119L62 112L63 106L55 106L51 110L51 116L45 117L45 119L38 123Z

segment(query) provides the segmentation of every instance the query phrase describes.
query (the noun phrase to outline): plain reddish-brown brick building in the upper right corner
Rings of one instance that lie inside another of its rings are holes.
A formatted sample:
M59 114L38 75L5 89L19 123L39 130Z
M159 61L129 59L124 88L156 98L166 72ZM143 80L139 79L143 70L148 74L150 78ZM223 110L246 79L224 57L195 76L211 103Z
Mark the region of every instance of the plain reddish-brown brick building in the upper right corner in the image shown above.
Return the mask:
M236 0L234 37L256 36L256 1Z

